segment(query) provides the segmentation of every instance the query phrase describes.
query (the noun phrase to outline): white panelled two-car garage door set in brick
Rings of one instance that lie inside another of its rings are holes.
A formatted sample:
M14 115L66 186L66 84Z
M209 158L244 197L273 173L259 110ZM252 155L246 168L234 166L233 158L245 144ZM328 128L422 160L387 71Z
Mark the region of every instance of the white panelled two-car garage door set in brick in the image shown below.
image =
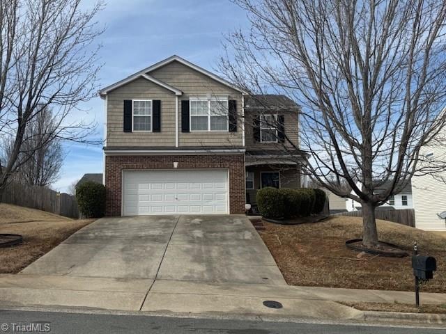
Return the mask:
M228 170L125 170L123 215L227 214Z

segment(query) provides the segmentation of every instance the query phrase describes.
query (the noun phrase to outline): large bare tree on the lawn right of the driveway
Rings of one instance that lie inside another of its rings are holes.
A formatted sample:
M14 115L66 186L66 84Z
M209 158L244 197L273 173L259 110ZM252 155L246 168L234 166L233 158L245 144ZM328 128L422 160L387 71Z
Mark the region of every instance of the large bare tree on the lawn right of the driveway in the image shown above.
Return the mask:
M250 93L300 104L308 155L293 155L291 141L278 150L305 159L326 189L361 202L363 244L378 246L375 208L413 175L445 168L417 162L446 120L446 1L234 2L252 29L229 36L222 72Z

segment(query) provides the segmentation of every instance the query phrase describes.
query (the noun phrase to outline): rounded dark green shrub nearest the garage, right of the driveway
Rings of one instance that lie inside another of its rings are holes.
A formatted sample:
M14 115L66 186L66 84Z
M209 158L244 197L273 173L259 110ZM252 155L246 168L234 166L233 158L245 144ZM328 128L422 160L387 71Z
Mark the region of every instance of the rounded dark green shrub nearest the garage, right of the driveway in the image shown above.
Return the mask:
M284 193L280 189L267 186L257 191L257 207L262 216L267 218L283 218L285 216Z

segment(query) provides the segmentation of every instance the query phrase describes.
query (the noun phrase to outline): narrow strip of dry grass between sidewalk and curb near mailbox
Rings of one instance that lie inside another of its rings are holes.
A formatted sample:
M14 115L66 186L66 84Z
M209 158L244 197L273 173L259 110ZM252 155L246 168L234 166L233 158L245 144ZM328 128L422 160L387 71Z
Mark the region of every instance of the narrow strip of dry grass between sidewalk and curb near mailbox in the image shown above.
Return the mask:
M420 305L417 308L413 304L400 304L400 303L348 303L342 302L341 304L356 308L362 311L380 311L380 312L404 312L404 313L446 313L446 304L425 304Z

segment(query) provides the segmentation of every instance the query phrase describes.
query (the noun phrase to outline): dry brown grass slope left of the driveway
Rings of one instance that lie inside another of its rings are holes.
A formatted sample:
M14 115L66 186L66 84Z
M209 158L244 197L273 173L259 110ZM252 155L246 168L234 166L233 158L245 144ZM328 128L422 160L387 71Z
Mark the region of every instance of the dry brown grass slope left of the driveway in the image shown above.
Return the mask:
M18 273L92 221L77 221L36 209L0 204L0 233L23 236L23 244L0 248L0 273Z

